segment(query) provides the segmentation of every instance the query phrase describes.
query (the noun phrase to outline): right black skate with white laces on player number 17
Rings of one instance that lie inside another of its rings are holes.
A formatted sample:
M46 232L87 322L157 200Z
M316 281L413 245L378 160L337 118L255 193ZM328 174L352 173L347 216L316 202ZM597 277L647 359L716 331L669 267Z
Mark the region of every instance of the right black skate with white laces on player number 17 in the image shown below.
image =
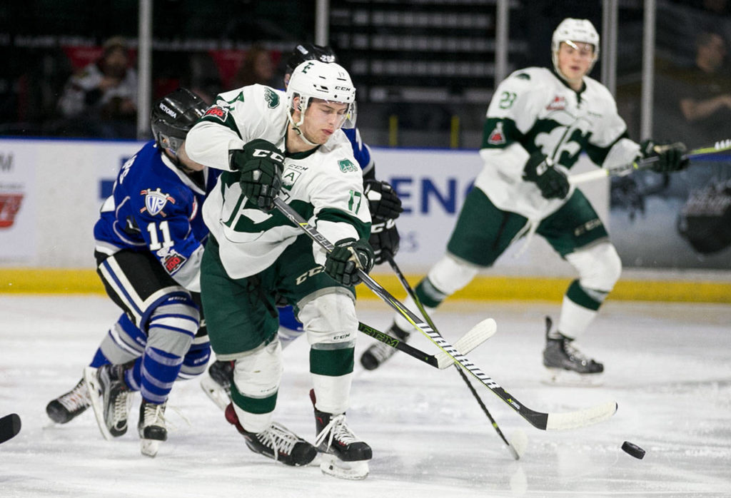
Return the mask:
M312 405L314 390L310 391ZM320 452L322 473L341 479L365 479L368 476L368 460L373 452L350 430L345 413L333 414L315 410L315 445Z

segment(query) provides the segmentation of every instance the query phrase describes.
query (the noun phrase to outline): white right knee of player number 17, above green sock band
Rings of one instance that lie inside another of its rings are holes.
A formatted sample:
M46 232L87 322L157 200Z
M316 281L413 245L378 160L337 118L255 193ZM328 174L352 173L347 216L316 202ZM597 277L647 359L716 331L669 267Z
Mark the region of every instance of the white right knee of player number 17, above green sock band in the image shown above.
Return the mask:
M352 294L344 289L314 296L300 304L298 318L310 344L355 344L358 319Z

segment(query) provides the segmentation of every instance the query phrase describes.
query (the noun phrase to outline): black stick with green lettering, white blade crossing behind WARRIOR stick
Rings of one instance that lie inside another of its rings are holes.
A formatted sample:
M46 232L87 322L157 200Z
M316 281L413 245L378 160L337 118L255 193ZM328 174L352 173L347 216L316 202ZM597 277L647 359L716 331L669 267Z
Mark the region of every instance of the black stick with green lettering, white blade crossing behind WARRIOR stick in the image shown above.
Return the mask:
M360 332L363 332L363 334L369 335L375 340L383 342L385 345L390 346L391 348L398 349L402 353L413 356L415 359L421 360L424 363L431 365L432 367L445 369L447 367L450 367L450 365L455 364L454 360L447 353L444 353L444 351L439 351L439 353L436 353L434 355L425 353L420 349L414 348L412 345L406 344L406 342L402 340L391 337L385 332L381 332L371 326L366 325L366 323L358 322L358 330ZM482 344L482 342L485 342L490 337L492 337L493 334L495 334L496 330L497 325L492 318L483 320L480 323L477 323L477 325L475 325L471 329L469 329L469 331L462 337L460 337L457 342L455 342L455 348L457 348L462 354L469 353L471 350L477 348L477 346Z

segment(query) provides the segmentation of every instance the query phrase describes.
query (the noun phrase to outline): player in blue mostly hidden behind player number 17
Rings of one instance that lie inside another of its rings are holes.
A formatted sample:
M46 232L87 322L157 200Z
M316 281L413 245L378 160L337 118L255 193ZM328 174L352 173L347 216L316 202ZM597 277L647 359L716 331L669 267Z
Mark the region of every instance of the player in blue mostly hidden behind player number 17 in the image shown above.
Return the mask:
M284 74L284 88L287 88L289 77L295 67L304 61L322 61L325 63L337 62L338 58L332 48L311 43L297 45L287 58L287 69ZM371 150L363 143L360 132L357 128L342 129L350 140L353 148L353 156L358 166L363 170L363 190L368 197L368 208L371 211L373 224L371 225L371 237L368 243L374 250L375 264L385 261L384 251L392 256L398 251L400 237L395 226L395 219L401 214L401 199L398 199L395 191L384 181L376 180L376 168ZM291 306L279 308L279 340L282 348L286 348L292 340L303 333L300 323ZM203 391L211 397L216 405L225 409L229 404L228 389L231 382L233 366L231 361L213 361L208 369L208 376L204 376L200 383Z

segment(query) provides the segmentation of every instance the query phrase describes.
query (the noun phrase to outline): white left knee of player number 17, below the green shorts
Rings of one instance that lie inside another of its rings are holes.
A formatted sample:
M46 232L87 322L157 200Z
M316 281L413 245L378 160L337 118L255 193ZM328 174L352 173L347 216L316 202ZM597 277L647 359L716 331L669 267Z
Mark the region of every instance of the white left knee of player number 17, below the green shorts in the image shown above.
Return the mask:
M263 398L275 394L283 370L281 345L274 340L236 359L233 381L236 389L249 397Z

